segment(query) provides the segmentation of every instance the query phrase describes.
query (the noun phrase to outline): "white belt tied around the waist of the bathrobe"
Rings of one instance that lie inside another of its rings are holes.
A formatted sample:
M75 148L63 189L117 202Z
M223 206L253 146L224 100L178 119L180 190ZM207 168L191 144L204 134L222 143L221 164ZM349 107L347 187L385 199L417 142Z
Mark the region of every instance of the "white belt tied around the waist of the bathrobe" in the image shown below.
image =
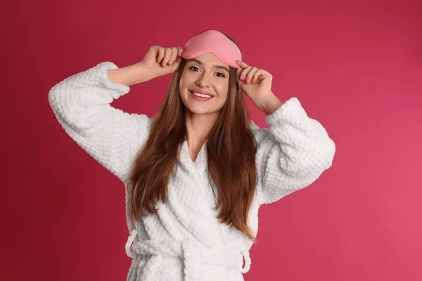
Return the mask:
M152 280L162 259L166 257L179 257L184 261L184 276L186 281L202 281L203 266L205 264L224 266L238 270L241 273L247 273L250 268L249 251L227 251L217 249L204 249L200 247L198 241L186 239L172 242L143 240L134 242L138 234L136 228L132 230L131 235L126 242L126 254L134 259L136 254L151 256L145 268L143 269L141 280ZM245 258L245 267L242 268L243 257ZM148 279L149 276L149 279Z

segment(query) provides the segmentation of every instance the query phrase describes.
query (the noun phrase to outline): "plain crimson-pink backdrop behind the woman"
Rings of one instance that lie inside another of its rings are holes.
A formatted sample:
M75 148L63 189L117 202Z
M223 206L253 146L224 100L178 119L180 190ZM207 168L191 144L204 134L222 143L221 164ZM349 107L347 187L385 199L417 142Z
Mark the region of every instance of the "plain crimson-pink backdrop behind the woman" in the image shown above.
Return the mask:
M65 134L47 95L102 61L124 67L207 29L237 39L276 96L298 97L337 146L315 183L260 209L245 280L422 280L421 1L288 2L2 5L0 280L126 280L124 185ZM153 116L169 82L112 105Z

